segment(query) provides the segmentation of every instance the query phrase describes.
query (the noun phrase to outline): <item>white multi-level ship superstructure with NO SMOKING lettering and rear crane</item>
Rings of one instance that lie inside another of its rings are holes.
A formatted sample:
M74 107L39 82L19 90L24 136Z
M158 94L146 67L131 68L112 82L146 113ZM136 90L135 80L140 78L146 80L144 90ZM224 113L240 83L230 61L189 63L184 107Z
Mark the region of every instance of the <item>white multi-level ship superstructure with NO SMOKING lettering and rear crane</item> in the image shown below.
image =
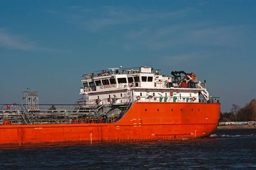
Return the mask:
M84 104L88 105L125 103L129 98L132 102L202 102L211 99L205 82L201 83L195 74L175 71L172 75L174 77L160 75L160 70L150 67L109 68L84 74L80 94L85 96ZM200 98L200 94L204 98Z

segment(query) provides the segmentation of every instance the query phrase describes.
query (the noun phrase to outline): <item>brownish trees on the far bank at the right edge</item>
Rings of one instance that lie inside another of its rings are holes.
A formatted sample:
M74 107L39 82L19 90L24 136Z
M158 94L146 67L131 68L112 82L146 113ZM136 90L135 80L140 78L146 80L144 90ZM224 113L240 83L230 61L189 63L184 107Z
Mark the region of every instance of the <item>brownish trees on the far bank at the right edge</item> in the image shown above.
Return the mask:
M230 112L220 113L220 122L256 121L256 99L252 99L243 108L232 105Z

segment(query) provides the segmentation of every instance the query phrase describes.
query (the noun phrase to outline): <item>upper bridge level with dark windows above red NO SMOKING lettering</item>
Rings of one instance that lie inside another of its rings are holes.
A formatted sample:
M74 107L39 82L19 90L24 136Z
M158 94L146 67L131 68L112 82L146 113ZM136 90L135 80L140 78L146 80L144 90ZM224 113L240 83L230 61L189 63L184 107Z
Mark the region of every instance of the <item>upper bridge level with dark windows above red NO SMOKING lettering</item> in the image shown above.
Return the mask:
M115 91L122 88L168 88L172 78L160 75L160 70L150 67L109 68L84 74L80 94Z

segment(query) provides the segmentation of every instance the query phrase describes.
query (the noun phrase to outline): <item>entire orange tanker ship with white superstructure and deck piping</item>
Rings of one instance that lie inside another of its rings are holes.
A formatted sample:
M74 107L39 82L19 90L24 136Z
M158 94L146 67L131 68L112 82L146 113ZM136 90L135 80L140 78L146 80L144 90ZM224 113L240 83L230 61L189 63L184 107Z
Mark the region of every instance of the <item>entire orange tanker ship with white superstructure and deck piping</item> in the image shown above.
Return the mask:
M150 67L83 74L73 105L0 105L0 148L200 139L218 124L220 102L193 73L170 76Z

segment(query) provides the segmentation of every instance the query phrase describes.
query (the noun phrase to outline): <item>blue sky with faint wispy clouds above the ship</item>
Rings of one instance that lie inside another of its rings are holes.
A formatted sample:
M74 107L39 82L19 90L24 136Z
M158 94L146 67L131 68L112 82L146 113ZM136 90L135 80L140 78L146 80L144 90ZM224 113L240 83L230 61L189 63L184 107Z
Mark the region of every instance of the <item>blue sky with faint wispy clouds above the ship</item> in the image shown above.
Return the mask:
M256 97L254 0L0 0L0 103L81 98L84 73L150 66L193 72L221 111Z

